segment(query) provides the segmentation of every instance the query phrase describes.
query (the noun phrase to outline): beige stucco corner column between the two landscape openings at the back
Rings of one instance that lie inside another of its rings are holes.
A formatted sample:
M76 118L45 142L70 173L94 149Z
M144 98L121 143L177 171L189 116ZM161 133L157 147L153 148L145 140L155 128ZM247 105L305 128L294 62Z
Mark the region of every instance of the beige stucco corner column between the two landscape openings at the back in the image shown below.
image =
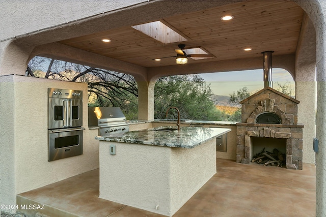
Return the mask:
M154 81L138 81L138 119L154 119Z

